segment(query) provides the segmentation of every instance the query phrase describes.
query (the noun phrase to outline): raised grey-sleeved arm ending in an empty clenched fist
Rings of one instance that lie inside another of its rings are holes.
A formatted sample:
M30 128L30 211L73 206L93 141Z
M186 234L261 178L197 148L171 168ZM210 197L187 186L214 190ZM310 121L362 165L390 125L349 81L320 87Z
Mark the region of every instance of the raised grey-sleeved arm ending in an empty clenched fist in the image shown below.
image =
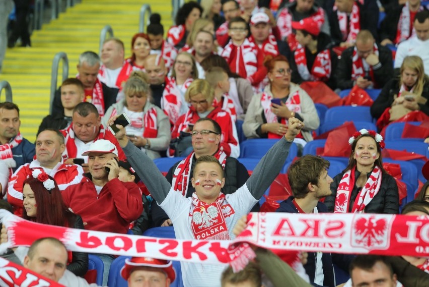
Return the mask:
M289 148L295 137L304 128L304 124L297 118L289 118L288 132L276 142L262 157L247 180L246 186L253 197L259 200L265 190L271 185L280 172L284 161L288 157Z

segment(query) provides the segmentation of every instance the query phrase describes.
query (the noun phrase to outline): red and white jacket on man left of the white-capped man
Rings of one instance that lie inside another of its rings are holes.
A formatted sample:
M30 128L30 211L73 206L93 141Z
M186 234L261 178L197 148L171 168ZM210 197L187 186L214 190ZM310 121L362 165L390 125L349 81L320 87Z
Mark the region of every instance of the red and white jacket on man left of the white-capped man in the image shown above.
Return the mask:
M31 163L21 165L12 176L8 184L8 202L14 207L14 213L22 216L23 212L23 197L22 188L24 181L32 176L34 169L43 169L40 162L35 159ZM46 172L46 171L45 171ZM59 190L64 190L70 185L75 185L84 180L84 170L77 164L64 164L62 161L58 162L52 169L49 176L51 176Z

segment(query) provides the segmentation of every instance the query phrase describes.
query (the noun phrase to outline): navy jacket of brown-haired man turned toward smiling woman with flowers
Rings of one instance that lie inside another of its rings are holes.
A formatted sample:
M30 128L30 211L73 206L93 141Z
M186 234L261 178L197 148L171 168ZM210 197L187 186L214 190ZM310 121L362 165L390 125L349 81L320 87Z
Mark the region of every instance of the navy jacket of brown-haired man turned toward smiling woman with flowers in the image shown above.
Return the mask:
M280 203L280 207L276 210L276 212L287 212L287 213L298 213L297 208L295 207L292 200L293 196L290 196L287 200L284 200ZM319 213L327 213L328 208L323 202L317 203L317 210ZM348 273L348 266L350 261L354 256L344 255L344 254L336 254L336 253L323 253L322 254L322 265L323 265L323 286L335 287L335 275L334 275L334 266L332 262L337 264L341 269ZM307 275L310 277L310 282L313 286L320 286L318 284L313 283L314 277L316 275L316 252L308 253L308 261L307 264L304 265L305 271Z

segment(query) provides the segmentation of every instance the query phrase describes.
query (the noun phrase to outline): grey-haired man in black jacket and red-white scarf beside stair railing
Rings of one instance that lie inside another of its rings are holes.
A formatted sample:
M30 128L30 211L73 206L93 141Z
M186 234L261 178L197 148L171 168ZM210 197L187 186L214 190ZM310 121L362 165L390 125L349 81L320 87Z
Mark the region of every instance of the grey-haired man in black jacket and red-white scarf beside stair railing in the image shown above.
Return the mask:
M119 90L108 87L97 78L100 70L100 57L95 52L83 52L79 56L77 69L78 75L76 78L81 80L85 88L84 101L93 103L97 107L100 116L103 116L109 106L116 102ZM60 89L55 92L52 102L52 114L57 113L63 113Z

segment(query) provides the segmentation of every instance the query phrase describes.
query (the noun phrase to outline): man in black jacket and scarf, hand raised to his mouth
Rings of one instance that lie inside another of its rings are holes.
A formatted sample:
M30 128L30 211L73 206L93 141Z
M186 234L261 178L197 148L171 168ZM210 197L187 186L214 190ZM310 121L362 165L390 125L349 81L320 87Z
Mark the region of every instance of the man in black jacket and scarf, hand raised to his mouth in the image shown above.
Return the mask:
M345 49L335 72L337 88L381 89L393 77L392 52L375 43L370 31L361 30L353 47Z

